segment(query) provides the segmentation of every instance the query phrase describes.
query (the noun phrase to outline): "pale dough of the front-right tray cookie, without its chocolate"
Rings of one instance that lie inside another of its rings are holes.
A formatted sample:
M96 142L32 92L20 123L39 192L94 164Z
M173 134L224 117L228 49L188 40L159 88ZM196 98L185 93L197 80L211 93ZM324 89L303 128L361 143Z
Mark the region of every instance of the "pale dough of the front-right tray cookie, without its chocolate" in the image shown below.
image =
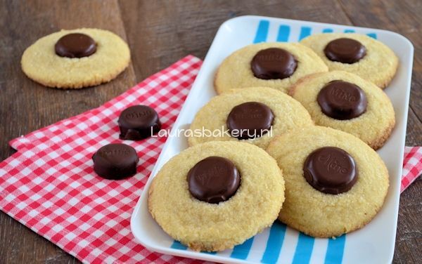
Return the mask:
M352 189L325 194L303 176L303 163L319 147L340 147L356 162L358 178ZM383 206L388 192L388 171L381 157L362 140L322 126L284 133L267 152L274 157L286 181L286 201L279 219L313 237L336 237L369 223Z

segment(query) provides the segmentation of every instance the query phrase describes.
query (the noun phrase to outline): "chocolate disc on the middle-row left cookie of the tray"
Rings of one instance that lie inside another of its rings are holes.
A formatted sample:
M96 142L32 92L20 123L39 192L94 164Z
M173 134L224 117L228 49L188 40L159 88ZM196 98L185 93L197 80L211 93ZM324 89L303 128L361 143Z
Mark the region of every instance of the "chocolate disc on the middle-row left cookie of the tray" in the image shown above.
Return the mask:
M271 109L258 102L248 102L233 107L227 117L231 136L238 139L259 138L268 132L274 120Z

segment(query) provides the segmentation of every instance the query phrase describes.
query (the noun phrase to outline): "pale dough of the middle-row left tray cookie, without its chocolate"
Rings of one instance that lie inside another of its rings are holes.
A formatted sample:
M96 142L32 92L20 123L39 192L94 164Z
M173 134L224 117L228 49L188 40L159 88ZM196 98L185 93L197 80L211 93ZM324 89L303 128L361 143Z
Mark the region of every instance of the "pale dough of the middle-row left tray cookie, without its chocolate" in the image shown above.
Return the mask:
M191 131L202 131L203 128L209 131L227 130L226 119L230 111L236 105L246 102L259 102L267 105L274 114L272 124L272 136L266 133L259 138L238 140L230 135L215 136L192 136L188 137L189 145L197 145L207 141L242 141L252 143L258 147L265 148L274 136L280 135L290 129L302 126L312 126L311 117L302 105L286 93L267 87L250 87L234 89L232 91L217 95L203 106L191 124Z

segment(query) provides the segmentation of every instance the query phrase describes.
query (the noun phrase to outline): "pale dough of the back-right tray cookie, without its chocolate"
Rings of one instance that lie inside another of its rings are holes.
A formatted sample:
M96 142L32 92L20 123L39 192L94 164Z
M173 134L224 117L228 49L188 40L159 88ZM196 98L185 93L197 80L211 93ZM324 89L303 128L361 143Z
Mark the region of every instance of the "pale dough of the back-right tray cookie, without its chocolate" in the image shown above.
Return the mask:
M340 38L349 38L359 41L366 48L366 55L352 64L328 60L324 53L326 45ZM329 70L343 70L352 72L373 82L378 87L385 88L397 71L399 59L385 44L364 34L355 33L324 33L314 34L300 41L301 44L312 48L328 65Z

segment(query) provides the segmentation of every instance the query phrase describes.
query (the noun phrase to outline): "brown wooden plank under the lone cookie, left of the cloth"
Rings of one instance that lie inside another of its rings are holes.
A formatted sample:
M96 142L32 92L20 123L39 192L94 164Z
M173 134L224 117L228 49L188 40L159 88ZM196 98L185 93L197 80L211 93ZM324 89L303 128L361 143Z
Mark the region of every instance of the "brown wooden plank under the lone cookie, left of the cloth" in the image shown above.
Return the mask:
M108 1L0 2L0 159L8 140L71 117L135 84L132 65L108 84L77 91L45 88L27 79L20 57L34 41L60 29L98 27L126 39L120 7ZM0 213L0 263L79 263L27 227Z

